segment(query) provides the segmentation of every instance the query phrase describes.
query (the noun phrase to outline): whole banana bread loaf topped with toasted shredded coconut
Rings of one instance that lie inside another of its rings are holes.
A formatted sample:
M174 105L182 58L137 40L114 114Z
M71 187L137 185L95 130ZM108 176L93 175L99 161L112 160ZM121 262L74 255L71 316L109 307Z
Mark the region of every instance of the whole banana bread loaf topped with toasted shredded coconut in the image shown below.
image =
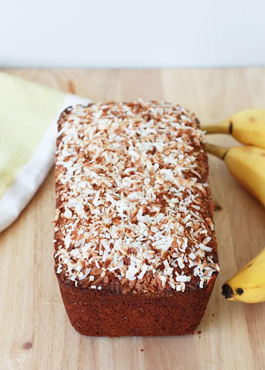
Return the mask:
M71 324L194 332L219 271L198 119L138 100L69 107L58 126L54 257Z

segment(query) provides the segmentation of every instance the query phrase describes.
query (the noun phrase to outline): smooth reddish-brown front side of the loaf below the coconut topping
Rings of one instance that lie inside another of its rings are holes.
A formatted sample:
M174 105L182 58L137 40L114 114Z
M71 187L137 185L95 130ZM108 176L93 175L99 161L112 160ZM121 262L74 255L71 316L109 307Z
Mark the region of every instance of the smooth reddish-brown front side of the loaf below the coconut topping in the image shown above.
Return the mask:
M57 276L58 277L58 276ZM61 295L71 325L87 336L165 336L194 334L214 287L168 291L152 296L117 295L82 289L62 282Z

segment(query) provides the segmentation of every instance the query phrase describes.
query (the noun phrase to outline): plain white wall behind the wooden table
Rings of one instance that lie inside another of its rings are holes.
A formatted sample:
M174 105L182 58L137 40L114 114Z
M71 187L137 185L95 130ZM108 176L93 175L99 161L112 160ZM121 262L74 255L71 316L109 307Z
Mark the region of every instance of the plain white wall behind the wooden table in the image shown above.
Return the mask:
M265 65L265 0L0 0L0 67Z

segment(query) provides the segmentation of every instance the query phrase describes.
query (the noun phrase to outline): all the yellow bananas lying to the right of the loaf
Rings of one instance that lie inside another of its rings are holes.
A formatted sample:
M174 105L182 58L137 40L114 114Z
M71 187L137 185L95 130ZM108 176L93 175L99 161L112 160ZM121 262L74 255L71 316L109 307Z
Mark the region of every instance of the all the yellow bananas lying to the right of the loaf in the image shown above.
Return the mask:
M201 129L206 134L231 134L244 144L234 148L206 144L206 149L223 159L231 174L265 207L265 110L243 110ZM247 303L265 301L265 248L223 284L222 294Z

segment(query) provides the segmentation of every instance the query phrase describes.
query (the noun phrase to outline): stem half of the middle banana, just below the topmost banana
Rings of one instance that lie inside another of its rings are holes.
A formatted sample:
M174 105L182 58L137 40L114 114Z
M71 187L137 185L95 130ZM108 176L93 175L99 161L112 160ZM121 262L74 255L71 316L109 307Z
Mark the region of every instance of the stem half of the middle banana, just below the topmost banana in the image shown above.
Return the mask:
M206 150L223 159L231 174L265 207L265 149L206 144Z

